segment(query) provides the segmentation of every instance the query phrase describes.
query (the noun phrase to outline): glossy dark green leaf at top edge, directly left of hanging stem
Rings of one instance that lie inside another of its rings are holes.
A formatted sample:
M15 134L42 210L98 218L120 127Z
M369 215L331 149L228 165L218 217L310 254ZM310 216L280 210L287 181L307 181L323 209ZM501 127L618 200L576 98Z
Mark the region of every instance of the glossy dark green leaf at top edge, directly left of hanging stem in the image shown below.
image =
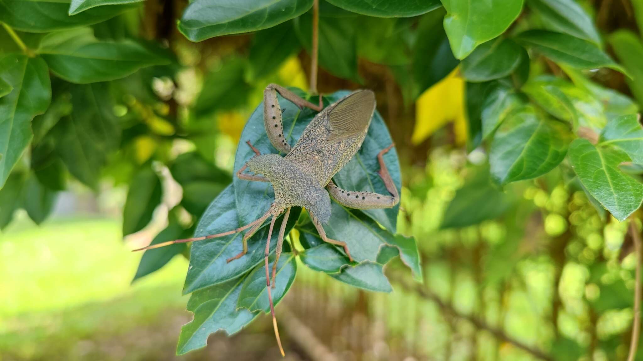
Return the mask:
M307 12L312 0L194 0L179 31L192 41L271 28Z

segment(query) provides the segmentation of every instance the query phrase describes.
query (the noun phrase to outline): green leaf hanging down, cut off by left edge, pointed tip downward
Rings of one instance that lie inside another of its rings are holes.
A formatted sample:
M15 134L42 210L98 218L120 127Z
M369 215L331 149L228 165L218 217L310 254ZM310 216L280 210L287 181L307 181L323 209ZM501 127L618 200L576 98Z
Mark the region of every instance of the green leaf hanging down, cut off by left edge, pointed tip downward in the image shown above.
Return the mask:
M1 11L1 10L0 10ZM31 121L47 110L51 83L40 57L8 54L0 57L0 79L13 89L0 98L0 188L23 155L33 134Z

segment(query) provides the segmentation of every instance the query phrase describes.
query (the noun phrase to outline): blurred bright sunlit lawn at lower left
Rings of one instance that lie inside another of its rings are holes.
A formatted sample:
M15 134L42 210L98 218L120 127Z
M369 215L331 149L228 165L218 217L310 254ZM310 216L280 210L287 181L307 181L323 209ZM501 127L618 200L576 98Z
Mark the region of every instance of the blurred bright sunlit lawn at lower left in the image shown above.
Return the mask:
M131 285L141 254L123 243L118 220L55 219L37 226L19 218L0 234L0 360L87 358L94 348L84 342L159 322L171 322L178 333L188 316L181 296L185 259L176 257ZM125 359L101 357L107 358Z

